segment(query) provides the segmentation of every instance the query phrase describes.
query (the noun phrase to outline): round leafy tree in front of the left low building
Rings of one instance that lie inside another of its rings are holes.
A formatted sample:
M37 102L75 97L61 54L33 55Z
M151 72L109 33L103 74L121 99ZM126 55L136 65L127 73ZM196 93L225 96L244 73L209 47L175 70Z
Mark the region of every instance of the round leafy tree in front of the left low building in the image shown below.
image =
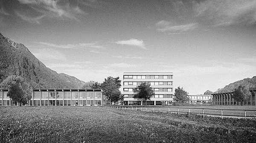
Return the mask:
M12 101L18 102L20 106L27 104L27 101L32 98L32 89L20 76L8 76L1 83L1 87L10 89L7 96L9 96Z

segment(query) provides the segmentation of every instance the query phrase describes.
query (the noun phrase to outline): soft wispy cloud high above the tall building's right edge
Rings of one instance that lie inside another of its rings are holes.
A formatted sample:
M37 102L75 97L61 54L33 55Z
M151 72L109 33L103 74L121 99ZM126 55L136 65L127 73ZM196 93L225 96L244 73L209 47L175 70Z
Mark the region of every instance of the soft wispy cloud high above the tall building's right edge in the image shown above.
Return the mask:
M160 32L170 31L174 33L183 33L183 32L190 31L197 28L198 25L197 23L189 23L185 25L172 25L170 24L170 22L162 20L157 23L157 26L161 27L157 29L157 31L160 31Z

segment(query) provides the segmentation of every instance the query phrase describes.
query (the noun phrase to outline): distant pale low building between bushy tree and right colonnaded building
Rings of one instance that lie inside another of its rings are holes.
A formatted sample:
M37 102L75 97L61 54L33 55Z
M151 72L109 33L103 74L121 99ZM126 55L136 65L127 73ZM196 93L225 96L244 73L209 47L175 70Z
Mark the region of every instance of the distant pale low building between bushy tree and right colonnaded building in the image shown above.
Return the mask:
M212 95L189 95L189 101L192 104L210 104L212 103Z

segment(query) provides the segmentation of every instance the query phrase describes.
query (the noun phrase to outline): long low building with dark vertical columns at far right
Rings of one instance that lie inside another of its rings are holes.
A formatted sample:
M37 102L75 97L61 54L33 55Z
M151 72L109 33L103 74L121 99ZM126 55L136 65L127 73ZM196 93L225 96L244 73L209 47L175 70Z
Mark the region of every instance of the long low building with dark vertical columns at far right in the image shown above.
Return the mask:
M243 102L243 105L255 105L256 90L250 90L250 100ZM212 104L213 105L241 105L240 102L237 102L232 98L233 92L230 93L215 93L212 94Z

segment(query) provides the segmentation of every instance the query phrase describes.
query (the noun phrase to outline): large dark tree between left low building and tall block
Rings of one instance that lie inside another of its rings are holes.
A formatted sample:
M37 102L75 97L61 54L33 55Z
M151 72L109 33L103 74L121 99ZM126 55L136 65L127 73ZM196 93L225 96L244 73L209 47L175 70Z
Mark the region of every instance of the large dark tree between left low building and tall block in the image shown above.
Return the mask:
M120 87L121 80L119 80L119 77L113 78L112 76L109 76L107 79L105 79L105 81L102 82L102 94L107 97L110 104L112 101L116 101L118 97L121 97L121 92L119 90Z

